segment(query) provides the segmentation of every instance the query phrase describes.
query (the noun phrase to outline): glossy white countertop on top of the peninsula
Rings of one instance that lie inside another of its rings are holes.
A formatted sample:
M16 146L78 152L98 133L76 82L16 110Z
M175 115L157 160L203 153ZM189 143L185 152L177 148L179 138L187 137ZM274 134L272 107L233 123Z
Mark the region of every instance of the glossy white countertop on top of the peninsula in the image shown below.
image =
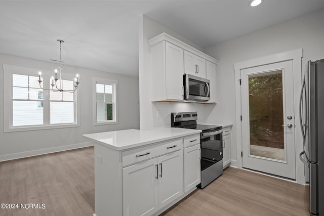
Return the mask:
M126 129L95 134L85 134L84 137L115 150L126 150L156 142L171 140L188 135L199 134L197 129L163 127L147 131Z

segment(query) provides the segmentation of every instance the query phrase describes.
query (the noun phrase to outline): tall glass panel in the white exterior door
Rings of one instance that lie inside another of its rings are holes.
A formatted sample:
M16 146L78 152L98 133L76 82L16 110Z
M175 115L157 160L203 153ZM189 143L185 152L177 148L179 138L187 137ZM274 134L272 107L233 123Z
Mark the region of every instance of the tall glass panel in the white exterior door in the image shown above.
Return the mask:
M285 160L282 70L249 75L250 155Z

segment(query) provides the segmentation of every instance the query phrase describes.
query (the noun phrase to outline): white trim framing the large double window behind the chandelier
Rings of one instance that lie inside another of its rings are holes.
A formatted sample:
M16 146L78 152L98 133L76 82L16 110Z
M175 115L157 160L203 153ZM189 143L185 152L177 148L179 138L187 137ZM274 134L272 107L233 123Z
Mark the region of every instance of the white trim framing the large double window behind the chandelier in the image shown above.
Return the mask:
M12 125L12 75L21 74L29 76L38 76L38 71L42 71L43 80L50 79L54 74L53 71L27 68L15 65L3 64L4 70L4 133L8 132L21 132L21 131L36 131L42 129L54 129L54 128L66 128L66 127L79 127L80 126L80 97L79 97L79 87L78 90L74 93L76 100L74 100L75 112L74 112L74 122L73 123L64 123L64 124L49 124L49 113L50 113L50 101L49 91L44 90L43 95L47 98L43 100L43 109L44 109L44 124L43 125L27 125L27 126L13 126ZM73 80L73 75L64 73L64 79ZM44 88L49 88L50 83L43 82ZM47 86L48 85L48 86ZM47 118L48 117L48 118Z

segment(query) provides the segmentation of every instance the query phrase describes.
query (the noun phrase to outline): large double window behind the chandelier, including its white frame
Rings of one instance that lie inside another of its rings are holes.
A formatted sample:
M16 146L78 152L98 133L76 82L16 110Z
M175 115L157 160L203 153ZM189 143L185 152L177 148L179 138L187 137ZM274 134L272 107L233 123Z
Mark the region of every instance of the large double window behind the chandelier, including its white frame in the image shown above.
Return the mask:
M12 65L3 65L3 68L4 100L7 104L4 107L5 132L79 126L76 115L77 91L75 93L43 91L39 87L37 69ZM43 72L42 87L44 84L45 89L50 88L52 73ZM72 76L71 80L68 78L62 80L63 87L73 89Z

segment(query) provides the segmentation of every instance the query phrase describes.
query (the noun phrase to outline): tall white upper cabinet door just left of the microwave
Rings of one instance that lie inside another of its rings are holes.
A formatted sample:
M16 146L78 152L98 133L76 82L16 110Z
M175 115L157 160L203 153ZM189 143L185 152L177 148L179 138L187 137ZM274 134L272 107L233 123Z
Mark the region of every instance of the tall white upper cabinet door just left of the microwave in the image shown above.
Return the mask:
M166 97L183 100L183 50L166 42Z

